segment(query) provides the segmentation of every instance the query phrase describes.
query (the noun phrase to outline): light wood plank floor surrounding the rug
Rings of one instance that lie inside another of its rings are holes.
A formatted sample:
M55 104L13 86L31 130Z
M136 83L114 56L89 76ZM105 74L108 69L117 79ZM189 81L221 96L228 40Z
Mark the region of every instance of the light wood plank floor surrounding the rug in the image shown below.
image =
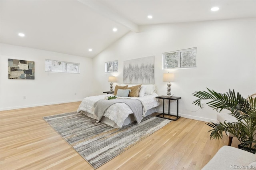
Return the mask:
M76 111L80 102L0 111L0 169L93 170L42 117ZM97 170L201 169L228 138L210 140L204 122L180 118ZM237 147L234 139L232 146Z

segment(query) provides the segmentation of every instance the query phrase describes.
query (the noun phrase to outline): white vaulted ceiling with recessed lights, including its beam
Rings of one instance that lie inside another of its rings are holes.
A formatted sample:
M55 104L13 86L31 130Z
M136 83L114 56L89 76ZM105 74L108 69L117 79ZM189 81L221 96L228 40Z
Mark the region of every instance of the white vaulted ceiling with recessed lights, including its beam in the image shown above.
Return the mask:
M141 25L248 17L255 0L0 0L0 42L94 57Z

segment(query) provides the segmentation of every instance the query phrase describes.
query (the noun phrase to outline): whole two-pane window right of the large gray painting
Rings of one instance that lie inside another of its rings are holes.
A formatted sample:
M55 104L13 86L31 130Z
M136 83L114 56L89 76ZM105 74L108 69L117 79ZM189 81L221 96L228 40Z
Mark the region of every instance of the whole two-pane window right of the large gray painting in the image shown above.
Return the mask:
M196 47L163 53L162 69L196 67Z

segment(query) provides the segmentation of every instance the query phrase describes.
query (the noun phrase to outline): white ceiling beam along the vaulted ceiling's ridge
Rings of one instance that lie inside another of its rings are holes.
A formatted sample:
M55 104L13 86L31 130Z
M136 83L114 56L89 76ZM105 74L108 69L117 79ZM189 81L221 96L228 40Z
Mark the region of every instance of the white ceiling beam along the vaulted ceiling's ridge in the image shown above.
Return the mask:
M113 20L114 22L117 22L119 24L122 24L129 30L133 32L139 32L139 26L135 24L134 22L131 22L130 20L126 19L125 17L121 16L117 12L115 12L113 9L104 6L102 3L100 3L97 0L77 0L84 5L88 6L89 8L95 10L99 14L102 14L103 16L106 16L110 20Z

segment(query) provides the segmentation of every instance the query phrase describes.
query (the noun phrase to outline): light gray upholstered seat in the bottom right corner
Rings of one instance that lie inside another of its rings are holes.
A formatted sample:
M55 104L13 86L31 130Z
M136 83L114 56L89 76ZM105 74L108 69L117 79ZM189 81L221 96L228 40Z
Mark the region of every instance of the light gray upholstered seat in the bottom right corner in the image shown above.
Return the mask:
M232 146L222 146L202 170L256 169L256 156Z

